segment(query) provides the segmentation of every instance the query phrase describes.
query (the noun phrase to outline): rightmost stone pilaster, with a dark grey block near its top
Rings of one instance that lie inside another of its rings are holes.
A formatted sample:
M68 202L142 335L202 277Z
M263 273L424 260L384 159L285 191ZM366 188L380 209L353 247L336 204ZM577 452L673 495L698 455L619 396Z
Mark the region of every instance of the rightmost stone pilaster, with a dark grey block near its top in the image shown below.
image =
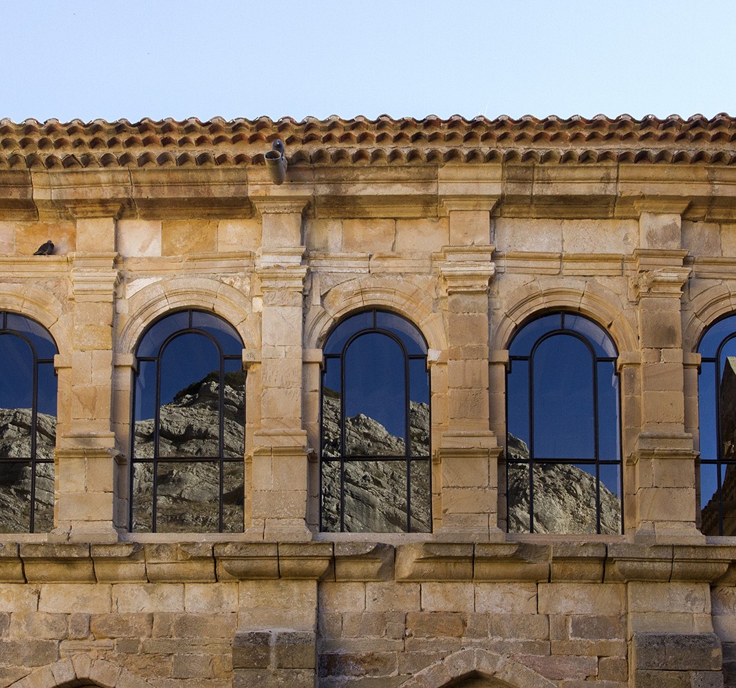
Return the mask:
M702 539L696 530L696 453L693 436L685 431L681 297L690 269L683 265L687 252L679 249L679 219L676 213L643 210L645 248L634 252L641 417L630 462L636 535L643 542ZM665 248L654 248L657 244Z

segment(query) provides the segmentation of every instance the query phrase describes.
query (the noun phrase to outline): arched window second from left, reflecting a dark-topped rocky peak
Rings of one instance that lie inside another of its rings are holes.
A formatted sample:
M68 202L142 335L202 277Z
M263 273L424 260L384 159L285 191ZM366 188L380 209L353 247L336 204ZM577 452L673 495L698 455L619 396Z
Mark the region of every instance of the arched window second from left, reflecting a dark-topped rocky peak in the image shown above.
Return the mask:
M136 352L130 528L243 530L243 343L213 313L151 325Z

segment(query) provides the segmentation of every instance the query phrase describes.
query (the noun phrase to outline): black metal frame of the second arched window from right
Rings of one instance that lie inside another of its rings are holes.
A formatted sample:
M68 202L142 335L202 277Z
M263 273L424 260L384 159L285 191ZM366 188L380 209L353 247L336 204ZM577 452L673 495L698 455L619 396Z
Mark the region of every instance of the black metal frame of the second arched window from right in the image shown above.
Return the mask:
M514 334L514 338L512 338L511 343L509 344L509 350L512 348L514 339L517 338L521 333L523 333L523 330L525 330L526 327L529 325L534 325L534 322L537 322L537 320L544 318L546 316L560 316L560 327L554 327L550 330L543 331L539 334L539 336L534 340L534 343L531 345L531 348L529 350L528 355L509 355L509 370L506 374L506 427L509 427L509 377L512 374L512 368L514 365L514 361L526 361L528 363L528 377L529 377L529 384L528 384L528 424L529 424L529 444L528 444L528 450L529 450L529 458L528 461L523 460L514 460L509 458L508 451L506 451L506 485L509 484L509 467L510 466L526 466L528 467L528 473L529 473L529 482L528 482L528 489L529 489L529 532L534 533L534 464L567 464L567 465L587 465L587 466L595 466L595 513L596 513L596 533L601 533L601 466L618 466L619 467L619 484L618 489L620 490L620 494L622 495L621 498L621 514L620 514L620 522L621 522L621 533L623 533L623 461L621 458L621 449L620 449L620 408L621 408L621 401L620 401L620 385L618 389L618 428L616 428L616 432L619 437L619 455L618 458L615 461L607 460L604 461L600 458L600 433L599 433L599 423L600 423L600 414L598 409L598 363L616 363L618 360L618 355L615 356L601 356L598 355L595 352L595 348L592 346L590 339L587 338L584 334L578 332L577 330L571 330L567 329L565 327L565 316L571 316L574 318L582 318L587 320L587 322L592 323L592 325L595 325L595 327L598 328L598 330L601 331L601 333L604 333L608 341L610 342L611 346L615 349L615 344L613 344L613 341L610 337L610 335L604 330L601 325L598 325L597 322L594 320L587 318L586 316L582 315L581 313L576 313L575 311L548 311L545 313L539 313L536 316L532 317L531 319L528 319L518 330L517 333ZM594 455L592 455L589 458L550 458L545 456L537 456L534 453L534 353L537 351L540 344L542 344L543 341L547 341L548 339L559 336L564 334L565 336L573 336L574 338L577 338L579 341L581 341L584 346L587 348L588 352L590 352L591 356L591 366L592 366L592 383L593 383L593 389L592 389L592 400L593 400L593 410L592 410L592 416L593 416L593 432L594 432ZM618 372L616 373L618 377ZM620 378L619 378L620 379ZM507 503L507 508L509 507L509 504ZM507 519L507 525L506 528L508 530L508 519Z

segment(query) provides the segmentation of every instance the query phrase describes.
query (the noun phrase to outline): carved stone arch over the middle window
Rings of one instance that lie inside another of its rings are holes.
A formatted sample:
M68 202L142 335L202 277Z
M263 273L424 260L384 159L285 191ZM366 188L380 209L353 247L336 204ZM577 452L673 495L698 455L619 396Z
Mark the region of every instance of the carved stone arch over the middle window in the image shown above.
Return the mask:
M416 325L430 349L447 347L442 314L434 309L434 280L425 285L399 282L386 275L364 275L339 284L328 291L322 305L312 306L306 314L305 347L322 348L333 325L353 311L364 308L386 308L404 316Z

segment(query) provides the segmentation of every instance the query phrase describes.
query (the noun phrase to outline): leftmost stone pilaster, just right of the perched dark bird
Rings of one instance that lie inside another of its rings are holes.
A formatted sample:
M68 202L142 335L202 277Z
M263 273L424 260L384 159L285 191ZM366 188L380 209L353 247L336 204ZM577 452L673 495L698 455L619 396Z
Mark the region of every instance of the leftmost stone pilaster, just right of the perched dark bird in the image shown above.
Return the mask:
M54 537L117 539L113 514L122 461L110 424L113 416L113 327L116 209L74 208L77 253L72 258L71 414L57 443Z

